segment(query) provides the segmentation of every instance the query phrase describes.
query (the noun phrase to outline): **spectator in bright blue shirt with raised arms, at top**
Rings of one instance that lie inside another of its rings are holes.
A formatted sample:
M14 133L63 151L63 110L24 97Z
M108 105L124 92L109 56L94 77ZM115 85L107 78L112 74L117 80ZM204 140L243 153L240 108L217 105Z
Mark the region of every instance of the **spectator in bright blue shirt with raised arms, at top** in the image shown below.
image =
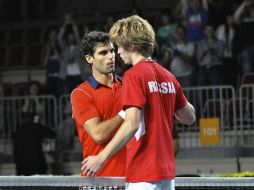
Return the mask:
M187 27L187 40L190 42L203 40L208 21L207 0L181 0L181 4Z

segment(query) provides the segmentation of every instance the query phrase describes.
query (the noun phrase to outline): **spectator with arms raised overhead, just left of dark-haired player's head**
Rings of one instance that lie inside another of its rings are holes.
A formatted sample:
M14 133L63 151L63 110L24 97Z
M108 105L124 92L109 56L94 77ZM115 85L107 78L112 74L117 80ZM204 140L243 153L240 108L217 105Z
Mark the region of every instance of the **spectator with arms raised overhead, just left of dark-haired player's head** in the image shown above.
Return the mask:
M66 34L67 39L64 38ZM65 15L64 24L58 35L59 44L63 52L63 63L60 68L60 78L66 84L66 93L80 84L84 77L84 64L79 55L80 37L78 27L70 14Z

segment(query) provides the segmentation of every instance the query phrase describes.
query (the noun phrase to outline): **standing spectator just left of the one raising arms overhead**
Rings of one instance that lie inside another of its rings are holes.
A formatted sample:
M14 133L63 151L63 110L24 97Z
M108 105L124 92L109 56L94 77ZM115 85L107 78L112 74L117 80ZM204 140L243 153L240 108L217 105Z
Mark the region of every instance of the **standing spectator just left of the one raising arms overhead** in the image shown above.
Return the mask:
M59 71L62 61L62 53L57 39L57 31L51 30L46 42L43 62L46 66L47 94L54 95L56 98L63 93L63 87L59 79Z

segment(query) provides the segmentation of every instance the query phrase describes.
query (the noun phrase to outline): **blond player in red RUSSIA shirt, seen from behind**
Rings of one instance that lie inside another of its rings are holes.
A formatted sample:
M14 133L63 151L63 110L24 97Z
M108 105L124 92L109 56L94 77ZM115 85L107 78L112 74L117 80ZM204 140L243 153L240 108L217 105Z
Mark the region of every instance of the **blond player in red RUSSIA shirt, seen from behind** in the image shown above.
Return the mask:
M176 78L150 58L155 34L146 20L139 16L118 20L109 35L123 61L133 66L123 80L125 121L98 155L84 160L84 172L95 176L127 144L128 190L175 189L173 119L191 125L195 109Z

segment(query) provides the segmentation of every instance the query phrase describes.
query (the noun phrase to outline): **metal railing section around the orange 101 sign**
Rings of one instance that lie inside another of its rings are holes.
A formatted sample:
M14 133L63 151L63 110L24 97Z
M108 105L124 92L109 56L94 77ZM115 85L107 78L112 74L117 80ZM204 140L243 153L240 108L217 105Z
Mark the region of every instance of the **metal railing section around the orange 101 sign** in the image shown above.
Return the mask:
M235 147L237 144L237 122L235 120L235 90L232 86L203 86L185 88L184 93L196 110L196 121L191 126L176 122L180 133L181 147L211 147L200 143L200 119L218 118L220 143L213 147Z

